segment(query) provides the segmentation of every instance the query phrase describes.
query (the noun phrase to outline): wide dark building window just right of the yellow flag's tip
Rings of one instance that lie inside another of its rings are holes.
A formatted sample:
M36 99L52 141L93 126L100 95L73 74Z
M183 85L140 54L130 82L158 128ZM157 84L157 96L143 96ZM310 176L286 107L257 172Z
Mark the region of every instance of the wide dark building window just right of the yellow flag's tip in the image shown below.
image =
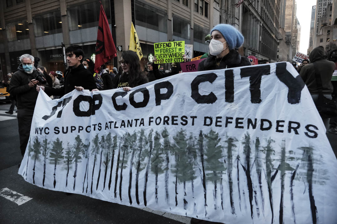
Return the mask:
M136 25L167 33L166 11L161 11L140 1L134 1L134 5Z

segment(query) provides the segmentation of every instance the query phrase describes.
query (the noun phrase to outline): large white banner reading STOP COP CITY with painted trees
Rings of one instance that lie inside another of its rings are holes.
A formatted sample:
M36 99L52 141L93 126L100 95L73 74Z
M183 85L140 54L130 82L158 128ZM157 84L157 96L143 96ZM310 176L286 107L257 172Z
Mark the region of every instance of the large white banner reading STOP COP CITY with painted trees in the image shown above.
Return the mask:
M19 174L37 186L222 223L335 223L337 160L288 62L125 92L40 92Z

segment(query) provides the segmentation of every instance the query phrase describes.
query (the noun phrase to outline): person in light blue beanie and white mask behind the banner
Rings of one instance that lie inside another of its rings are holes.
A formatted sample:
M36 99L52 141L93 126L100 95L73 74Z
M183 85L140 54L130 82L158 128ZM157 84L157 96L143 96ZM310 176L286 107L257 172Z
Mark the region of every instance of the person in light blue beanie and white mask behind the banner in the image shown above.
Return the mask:
M248 58L234 50L243 44L242 34L233 26L218 24L211 31L210 55L200 62L198 71L251 65Z

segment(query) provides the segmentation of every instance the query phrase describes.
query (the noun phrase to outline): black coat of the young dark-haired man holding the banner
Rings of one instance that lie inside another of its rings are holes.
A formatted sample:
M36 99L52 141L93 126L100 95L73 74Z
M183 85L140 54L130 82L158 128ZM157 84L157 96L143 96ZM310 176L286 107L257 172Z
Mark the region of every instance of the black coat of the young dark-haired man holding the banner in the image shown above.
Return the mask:
M93 75L89 70L84 68L83 64L80 64L76 68L69 67L63 74L65 74L64 86L59 89L45 87L45 93L50 96L63 96L73 91L75 86L82 86L84 89L89 89L90 91L96 89L96 82Z

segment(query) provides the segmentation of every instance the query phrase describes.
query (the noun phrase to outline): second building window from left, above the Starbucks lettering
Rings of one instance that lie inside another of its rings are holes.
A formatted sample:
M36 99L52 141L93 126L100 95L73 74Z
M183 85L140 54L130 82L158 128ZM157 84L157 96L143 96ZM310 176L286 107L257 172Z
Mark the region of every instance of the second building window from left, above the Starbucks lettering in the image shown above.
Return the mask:
M33 17L36 37L62 33L61 12L51 12Z

